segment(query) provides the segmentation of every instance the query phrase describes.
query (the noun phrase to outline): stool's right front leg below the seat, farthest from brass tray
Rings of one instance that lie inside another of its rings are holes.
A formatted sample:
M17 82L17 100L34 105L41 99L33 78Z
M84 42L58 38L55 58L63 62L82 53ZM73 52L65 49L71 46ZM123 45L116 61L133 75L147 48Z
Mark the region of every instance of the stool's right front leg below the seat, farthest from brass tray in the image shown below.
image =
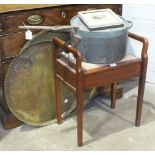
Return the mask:
M145 77L141 76L139 77L139 85L138 85L138 97L137 97L137 109L136 109L136 121L135 121L136 126L140 126L144 88L145 88Z

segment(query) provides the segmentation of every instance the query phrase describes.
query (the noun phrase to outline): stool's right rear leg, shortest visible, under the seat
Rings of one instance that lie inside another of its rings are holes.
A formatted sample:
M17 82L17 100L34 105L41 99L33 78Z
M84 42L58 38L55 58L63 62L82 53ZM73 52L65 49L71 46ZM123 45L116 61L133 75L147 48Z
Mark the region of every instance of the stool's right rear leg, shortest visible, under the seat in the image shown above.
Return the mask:
M111 84L111 108L115 108L116 103L116 83Z

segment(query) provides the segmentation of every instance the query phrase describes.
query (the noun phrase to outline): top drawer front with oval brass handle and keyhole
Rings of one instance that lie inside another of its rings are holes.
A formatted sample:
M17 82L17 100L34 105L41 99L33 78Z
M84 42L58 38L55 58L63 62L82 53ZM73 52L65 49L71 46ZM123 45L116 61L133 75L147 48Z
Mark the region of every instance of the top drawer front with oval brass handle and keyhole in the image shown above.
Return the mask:
M70 19L77 14L78 11L87 9L103 9L111 8L116 10L116 5L100 4L100 5L73 5L63 6L59 8L51 8L45 10L21 12L4 16L4 31L19 31L18 26L23 25L63 25L69 24ZM33 18L38 15L39 18Z

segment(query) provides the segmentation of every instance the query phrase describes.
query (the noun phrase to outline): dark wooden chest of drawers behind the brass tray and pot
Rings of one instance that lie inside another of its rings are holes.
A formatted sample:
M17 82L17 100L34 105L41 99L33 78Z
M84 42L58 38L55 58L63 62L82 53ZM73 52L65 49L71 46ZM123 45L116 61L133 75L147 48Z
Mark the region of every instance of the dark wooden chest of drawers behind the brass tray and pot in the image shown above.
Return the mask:
M44 6L43 8L31 8L0 13L0 116L4 128L16 127L21 123L12 116L7 107L3 93L3 84L7 67L26 43L25 32L19 29L18 26L23 24L48 26L66 25L69 24L70 19L75 16L78 11L94 8L111 8L117 14L122 13L122 6L119 4ZM38 15L39 18L35 19L34 15ZM37 32L38 31L33 31L34 34Z

